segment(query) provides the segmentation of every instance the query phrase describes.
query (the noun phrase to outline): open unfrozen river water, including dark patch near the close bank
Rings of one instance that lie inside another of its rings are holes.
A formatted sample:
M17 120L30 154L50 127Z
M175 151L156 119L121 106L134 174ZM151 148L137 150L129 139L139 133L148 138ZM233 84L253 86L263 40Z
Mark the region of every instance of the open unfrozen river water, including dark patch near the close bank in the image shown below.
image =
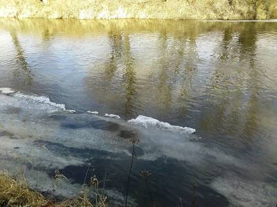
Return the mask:
M189 153L135 159L130 195L139 206L152 206L141 170L152 172L157 206L191 206L194 185L197 206L277 204L276 22L0 19L0 49L0 88L49 97L75 116L97 110L195 128L201 139L190 142L243 163L208 155L199 164ZM95 155L94 173L124 193L130 157L44 144ZM79 184L86 170L61 169Z

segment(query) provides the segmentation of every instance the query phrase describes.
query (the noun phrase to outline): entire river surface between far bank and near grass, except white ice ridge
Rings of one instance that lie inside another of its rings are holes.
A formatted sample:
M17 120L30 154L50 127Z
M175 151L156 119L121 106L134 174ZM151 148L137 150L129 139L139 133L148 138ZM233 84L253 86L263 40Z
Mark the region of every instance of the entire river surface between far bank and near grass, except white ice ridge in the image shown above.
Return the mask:
M151 206L149 170L157 206L190 206L194 185L197 206L276 206L276 22L0 19L0 48L0 88L21 92L0 94L1 168L23 162L38 190L59 169L76 195L91 166L120 205L139 137L132 205Z

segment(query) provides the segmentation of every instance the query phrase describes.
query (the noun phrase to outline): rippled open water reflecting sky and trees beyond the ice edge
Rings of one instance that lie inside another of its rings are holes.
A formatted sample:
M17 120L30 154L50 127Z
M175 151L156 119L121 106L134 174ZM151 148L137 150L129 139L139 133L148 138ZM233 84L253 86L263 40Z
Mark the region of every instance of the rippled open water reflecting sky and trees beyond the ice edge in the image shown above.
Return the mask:
M0 21L0 86L46 95L78 112L147 115L196 128L205 144L263 166L255 179L271 181L276 24L153 22ZM249 175L238 174L243 182ZM215 184L229 185L224 176Z

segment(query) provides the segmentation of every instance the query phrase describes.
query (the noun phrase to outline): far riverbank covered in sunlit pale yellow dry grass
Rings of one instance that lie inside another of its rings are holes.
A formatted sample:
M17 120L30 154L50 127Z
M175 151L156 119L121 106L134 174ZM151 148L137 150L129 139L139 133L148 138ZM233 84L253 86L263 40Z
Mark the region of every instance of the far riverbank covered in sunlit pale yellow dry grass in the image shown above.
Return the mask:
M47 19L274 19L277 2L245 0L2 0L0 17Z

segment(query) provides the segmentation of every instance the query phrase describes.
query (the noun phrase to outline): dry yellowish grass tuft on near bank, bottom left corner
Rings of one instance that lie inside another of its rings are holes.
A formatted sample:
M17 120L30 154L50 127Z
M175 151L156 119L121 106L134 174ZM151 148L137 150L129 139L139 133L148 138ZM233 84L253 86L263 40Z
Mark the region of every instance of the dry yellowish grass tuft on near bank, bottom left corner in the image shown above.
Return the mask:
M66 199L56 203L46 199L42 194L28 186L24 178L15 179L10 177L7 172L0 172L0 206L95 206L107 207L105 200L100 200L98 204L91 204L87 195L84 193L80 197Z

